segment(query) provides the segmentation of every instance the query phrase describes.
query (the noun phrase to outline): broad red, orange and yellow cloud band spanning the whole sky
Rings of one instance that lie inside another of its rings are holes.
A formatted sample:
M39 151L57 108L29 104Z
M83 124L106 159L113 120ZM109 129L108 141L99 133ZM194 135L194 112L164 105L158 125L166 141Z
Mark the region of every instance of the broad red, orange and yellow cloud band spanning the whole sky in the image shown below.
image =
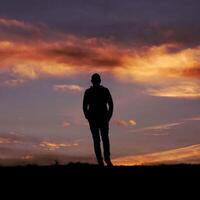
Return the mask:
M34 35L34 38L28 36L27 42L21 32L19 40L12 29L6 30L12 34L7 38L1 34L5 30L0 29L0 73L6 72L16 80L108 72L120 81L141 84L148 95L199 98L199 44L187 47L168 41L126 46L104 38L47 31L47 26L15 19L1 19L1 26L27 29ZM35 34L35 26L41 34ZM64 85L55 88L79 90Z

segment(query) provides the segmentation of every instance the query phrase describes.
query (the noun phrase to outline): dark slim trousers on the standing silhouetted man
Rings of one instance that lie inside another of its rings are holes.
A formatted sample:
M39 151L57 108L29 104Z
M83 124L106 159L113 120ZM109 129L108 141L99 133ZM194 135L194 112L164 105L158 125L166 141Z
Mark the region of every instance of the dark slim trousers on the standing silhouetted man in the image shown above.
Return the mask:
M100 163L103 161L101 153L101 139L103 142L104 149L104 160L110 160L110 142L109 142L109 122L103 121L98 122L95 120L90 120L90 130L94 142L94 151L96 154L97 161Z

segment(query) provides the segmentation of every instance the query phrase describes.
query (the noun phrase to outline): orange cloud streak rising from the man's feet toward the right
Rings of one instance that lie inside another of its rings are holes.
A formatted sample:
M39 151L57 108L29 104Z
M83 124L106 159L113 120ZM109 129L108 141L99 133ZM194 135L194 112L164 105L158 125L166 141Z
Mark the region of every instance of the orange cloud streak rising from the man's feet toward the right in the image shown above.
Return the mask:
M115 165L199 163L199 156L200 144L195 144L167 151L116 158L113 163Z

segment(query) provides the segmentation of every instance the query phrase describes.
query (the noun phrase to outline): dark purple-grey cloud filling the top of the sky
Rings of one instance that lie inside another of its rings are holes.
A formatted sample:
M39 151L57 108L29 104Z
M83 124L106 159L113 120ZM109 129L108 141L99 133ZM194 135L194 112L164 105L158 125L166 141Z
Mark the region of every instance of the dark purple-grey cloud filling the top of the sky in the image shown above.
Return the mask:
M46 38L56 30L84 37L113 38L126 45L158 45L169 42L196 45L200 41L200 3L197 0L20 2L2 0L1 17L47 24L50 30L44 31ZM4 32L5 37L7 32ZM13 33L15 36L23 35L24 38L43 34L41 30L31 26L28 30L21 27L20 31L15 26Z

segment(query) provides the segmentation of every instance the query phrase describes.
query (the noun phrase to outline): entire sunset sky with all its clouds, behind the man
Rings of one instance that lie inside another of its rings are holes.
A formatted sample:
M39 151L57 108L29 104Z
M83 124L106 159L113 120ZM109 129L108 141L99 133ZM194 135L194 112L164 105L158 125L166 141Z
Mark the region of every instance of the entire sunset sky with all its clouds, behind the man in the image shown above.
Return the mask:
M93 73L117 165L200 162L198 0L0 0L0 165L95 162Z

